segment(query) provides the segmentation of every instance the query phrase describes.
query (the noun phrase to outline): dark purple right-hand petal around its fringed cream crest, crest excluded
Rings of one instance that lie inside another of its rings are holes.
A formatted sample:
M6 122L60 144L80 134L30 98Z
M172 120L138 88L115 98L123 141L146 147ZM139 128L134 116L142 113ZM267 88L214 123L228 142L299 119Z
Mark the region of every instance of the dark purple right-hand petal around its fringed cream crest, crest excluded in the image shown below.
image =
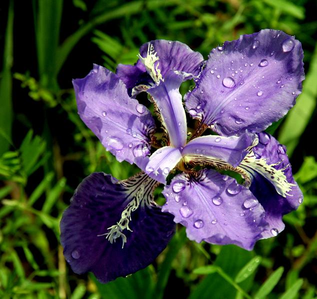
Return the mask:
M258 136L259 143L253 148L253 152L258 157L265 158L267 164L282 161L275 165L274 168L281 169L286 167L283 172L287 181L295 184L287 192L289 195L286 194L286 197L283 197L276 192L274 186L266 178L257 173L253 174L250 191L264 207L265 220L269 223L269 228L263 232L263 238L268 238L275 236L284 229L285 225L282 221L282 215L295 210L302 202L303 196L292 176L285 146L279 144L273 136L265 132L259 133Z

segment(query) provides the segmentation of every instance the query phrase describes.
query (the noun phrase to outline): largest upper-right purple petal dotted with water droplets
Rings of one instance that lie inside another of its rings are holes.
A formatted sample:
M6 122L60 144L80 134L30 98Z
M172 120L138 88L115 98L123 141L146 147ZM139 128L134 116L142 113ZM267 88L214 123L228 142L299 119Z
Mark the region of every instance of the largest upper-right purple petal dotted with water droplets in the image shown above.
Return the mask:
M264 29L213 49L185 95L189 114L222 135L260 132L285 115L301 91L303 51L293 36Z

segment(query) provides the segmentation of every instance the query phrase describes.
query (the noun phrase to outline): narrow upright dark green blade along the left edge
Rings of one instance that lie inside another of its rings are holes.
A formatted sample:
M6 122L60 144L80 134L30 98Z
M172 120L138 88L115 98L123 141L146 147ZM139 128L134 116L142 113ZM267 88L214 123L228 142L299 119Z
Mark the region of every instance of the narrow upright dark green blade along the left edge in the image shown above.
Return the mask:
M0 76L0 156L9 149L12 125L12 75L13 63L13 0L9 1L4 39L3 69Z

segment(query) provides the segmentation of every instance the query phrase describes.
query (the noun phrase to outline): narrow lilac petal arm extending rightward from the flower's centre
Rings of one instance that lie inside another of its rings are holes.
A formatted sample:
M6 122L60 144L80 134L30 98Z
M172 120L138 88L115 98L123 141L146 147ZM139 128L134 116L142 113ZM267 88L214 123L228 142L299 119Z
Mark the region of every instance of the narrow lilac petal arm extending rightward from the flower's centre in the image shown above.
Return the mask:
M252 145L253 133L245 132L240 137L200 136L189 141L181 151L183 156L200 156L201 159L222 160L233 167L237 166Z

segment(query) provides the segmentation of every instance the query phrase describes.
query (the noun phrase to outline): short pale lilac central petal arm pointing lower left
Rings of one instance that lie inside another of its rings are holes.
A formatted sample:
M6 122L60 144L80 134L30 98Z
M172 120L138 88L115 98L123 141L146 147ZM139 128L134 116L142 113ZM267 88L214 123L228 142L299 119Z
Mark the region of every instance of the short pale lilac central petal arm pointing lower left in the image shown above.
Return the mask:
M154 151L150 157L136 158L135 164L148 176L164 184L168 173L180 159L181 153L178 148L164 146Z

